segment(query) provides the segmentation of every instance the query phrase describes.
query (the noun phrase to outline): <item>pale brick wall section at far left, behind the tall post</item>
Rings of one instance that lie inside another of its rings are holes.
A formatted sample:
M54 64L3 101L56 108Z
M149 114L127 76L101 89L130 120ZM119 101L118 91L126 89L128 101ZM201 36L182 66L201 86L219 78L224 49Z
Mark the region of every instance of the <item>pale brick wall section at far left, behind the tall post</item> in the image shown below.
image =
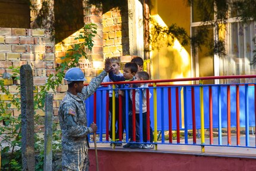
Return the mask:
M33 81L36 90L46 83L50 73L55 72L55 47L50 31L45 29L15 29L0 28L0 77L5 87L12 94L19 94L17 86L20 80L12 78L10 66L29 64L33 69ZM6 94L0 92L1 100L10 102ZM11 106L8 109L13 116L20 115L20 111ZM40 111L36 111L40 114ZM56 114L56 113L55 113ZM43 115L43 114L42 114Z

